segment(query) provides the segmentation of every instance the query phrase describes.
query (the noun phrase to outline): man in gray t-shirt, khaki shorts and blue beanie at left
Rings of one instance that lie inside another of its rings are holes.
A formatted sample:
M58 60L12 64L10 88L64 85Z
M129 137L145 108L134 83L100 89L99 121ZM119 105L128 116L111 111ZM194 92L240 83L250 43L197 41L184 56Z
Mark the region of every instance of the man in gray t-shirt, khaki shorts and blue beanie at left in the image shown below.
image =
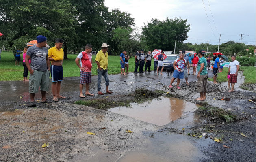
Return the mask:
M49 71L50 62L48 58L48 50L45 47L47 38L45 36L37 36L37 44L28 48L25 63L30 72L29 78L29 94L31 103L28 106L35 107L35 93L40 87L42 102L46 102L46 91L49 90ZM31 66L28 60L31 59Z

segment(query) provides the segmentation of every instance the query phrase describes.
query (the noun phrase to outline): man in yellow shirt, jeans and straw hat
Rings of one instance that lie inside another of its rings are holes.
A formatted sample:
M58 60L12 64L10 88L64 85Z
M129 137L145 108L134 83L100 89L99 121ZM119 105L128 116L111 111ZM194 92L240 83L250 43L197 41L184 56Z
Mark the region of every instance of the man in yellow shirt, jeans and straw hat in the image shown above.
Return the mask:
M98 74L98 83L97 83L97 94L104 95L100 91L100 83L101 83L101 78L102 75L105 79L106 83L106 93L112 94L111 91L108 90L108 85L109 85L109 79L108 79L108 46L106 43L102 43L102 48L98 53L96 54L95 61L97 63L97 74Z

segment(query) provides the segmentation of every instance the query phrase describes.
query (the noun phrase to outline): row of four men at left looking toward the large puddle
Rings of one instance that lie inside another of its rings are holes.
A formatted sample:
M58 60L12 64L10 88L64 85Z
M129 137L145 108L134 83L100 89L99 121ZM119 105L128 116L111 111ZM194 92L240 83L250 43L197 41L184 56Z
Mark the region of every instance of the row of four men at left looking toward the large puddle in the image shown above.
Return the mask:
M45 47L47 43L47 38L45 36L37 36L37 44L30 48L25 48L23 55L25 56L25 66L30 72L29 79L29 94L30 94L30 104L28 106L35 107L35 94L38 92L39 88L41 91L42 102L48 102L46 100L46 91L49 90L49 71L52 78L52 94L53 101L59 101L59 99L65 99L65 96L60 95L61 81L63 81L63 59L64 52L61 48L63 46L63 40L57 38L55 40L55 46L49 50ZM98 51L95 61L97 63L98 72L98 83L97 92L99 95L104 95L101 92L101 78L105 79L106 93L111 94L112 92L108 90L109 79L108 79L108 46L103 43L101 50ZM80 95L79 97L85 98L85 95L93 96L89 92L89 83L91 83L91 68L92 68L92 45L86 45L85 50L78 54L75 62L80 68ZM79 64L80 61L80 64ZM85 84L86 92L83 94L83 85Z

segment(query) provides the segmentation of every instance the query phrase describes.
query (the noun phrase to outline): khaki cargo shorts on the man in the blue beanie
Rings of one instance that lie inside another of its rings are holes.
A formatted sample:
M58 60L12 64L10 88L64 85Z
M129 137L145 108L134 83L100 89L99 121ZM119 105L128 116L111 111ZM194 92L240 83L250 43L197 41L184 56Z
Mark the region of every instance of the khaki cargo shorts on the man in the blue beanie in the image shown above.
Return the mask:
M29 77L29 93L37 93L39 90L48 91L49 90L49 76L50 73L46 71L34 70L34 73Z

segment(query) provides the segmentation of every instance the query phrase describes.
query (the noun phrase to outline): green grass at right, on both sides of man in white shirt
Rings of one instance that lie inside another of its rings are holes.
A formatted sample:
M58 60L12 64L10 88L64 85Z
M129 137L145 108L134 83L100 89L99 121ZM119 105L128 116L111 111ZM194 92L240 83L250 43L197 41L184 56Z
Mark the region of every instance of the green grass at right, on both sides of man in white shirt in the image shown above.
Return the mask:
M245 84L255 84L255 67L254 66L241 66L240 70L243 71L243 75L245 76L244 83ZM227 79L228 68L223 68L222 72L219 72L217 75L217 82L225 82ZM213 81L213 78L210 79Z

